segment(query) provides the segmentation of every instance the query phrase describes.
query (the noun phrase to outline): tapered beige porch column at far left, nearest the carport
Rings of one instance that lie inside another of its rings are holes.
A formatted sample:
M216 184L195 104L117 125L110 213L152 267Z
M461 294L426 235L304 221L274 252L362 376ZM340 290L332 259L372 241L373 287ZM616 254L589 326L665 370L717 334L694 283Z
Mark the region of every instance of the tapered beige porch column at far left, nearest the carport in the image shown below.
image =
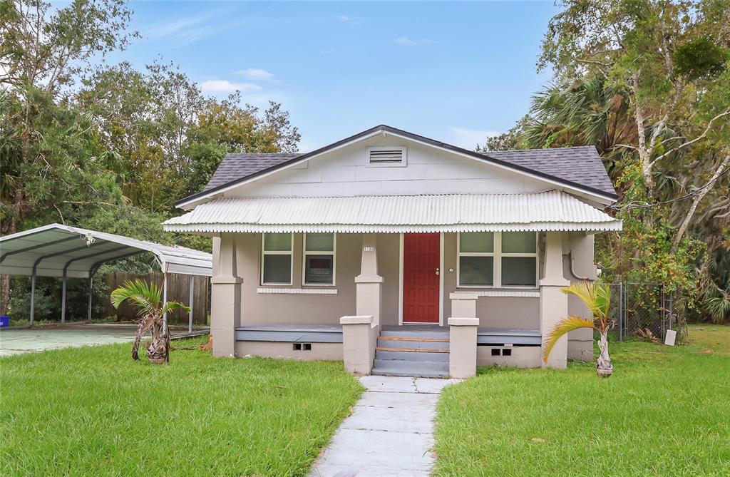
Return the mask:
M218 249L218 250L216 250ZM213 276L210 279L210 334L213 356L236 356L236 327L241 324L241 283L235 234L213 239Z

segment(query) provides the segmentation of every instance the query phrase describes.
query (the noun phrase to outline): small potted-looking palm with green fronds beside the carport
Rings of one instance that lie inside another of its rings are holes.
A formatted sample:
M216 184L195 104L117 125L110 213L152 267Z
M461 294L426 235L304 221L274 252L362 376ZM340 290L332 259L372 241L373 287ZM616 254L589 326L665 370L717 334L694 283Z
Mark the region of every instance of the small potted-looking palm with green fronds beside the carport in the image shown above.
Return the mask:
M170 336L169 329L164 330L163 316L171 310L186 310L180 302L166 302L161 304L160 287L155 283L147 283L137 280L126 281L115 291L112 291L112 305L119 308L122 302L129 300L137 307L139 326L137 335L134 335L132 345L132 359L139 359L139 342L148 331L152 332L152 341L147 345L147 359L153 363L169 362L170 360Z

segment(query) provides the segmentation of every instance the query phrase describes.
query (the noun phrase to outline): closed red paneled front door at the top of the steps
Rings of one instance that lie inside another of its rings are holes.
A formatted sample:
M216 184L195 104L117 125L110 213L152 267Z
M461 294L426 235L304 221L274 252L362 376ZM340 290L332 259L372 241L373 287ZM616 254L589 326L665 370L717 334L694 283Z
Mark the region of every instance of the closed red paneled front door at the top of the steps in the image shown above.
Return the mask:
M439 234L403 234L403 321L439 322Z

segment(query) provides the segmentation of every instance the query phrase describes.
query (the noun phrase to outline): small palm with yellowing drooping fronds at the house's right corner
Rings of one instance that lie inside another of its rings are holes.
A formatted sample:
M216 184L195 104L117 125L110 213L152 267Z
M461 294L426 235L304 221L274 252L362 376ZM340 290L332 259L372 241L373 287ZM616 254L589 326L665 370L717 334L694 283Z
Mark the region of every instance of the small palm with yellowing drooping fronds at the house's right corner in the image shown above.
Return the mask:
M561 321L550 329L548 336L545 338L545 343L542 348L542 360L548 362L548 356L550 351L553 350L555 343L558 342L561 336L568 332L572 332L574 329L579 328L591 328L599 332L600 338L598 347L600 354L598 356L598 362L596 362L596 371L602 378L608 378L613 373L613 366L611 365L611 356L608 354L608 330L611 327L611 321L609 320L608 313L611 307L611 289L609 286L603 283L572 283L571 286L567 286L561 289L563 293L572 294L580 298L585 303L588 310L593 313L593 318L580 318L580 316L568 316L563 318Z

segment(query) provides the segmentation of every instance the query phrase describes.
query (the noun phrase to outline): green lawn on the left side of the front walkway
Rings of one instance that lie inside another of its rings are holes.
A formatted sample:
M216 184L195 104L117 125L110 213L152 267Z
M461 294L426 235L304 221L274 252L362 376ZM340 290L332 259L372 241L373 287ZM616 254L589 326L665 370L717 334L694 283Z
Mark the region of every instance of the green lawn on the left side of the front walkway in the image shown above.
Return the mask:
M169 365L130 345L0 359L0 476L301 476L362 388L341 362Z

